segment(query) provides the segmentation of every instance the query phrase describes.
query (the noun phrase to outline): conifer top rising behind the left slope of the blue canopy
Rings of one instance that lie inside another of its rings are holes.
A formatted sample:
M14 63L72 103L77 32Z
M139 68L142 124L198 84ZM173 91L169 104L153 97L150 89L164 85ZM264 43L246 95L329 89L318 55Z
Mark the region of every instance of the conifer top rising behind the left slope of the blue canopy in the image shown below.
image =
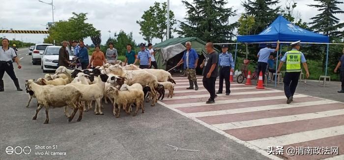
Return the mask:
M272 6L279 2L279 0L245 0L242 2L242 6L245 7L245 14L255 16L256 23L253 27L253 34L262 32L276 19L281 6L276 8L272 8Z

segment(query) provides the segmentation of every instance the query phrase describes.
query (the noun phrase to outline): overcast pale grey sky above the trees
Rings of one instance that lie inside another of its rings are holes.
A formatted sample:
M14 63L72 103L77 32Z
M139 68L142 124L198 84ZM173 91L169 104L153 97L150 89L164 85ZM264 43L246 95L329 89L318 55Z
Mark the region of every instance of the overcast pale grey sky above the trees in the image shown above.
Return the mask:
M42 0L51 2L48 0ZM101 30L102 43L109 38L109 30L113 36L114 32L123 30L124 32L133 32L136 43L144 42L139 34L140 27L136 24L144 10L147 10L154 1L164 2L167 0L54 0L56 9L54 10L55 21L67 20L72 16L72 12L86 12L88 20L86 22ZM193 0L188 0L193 1ZM240 5L242 0L228 0L226 7L237 9L236 14L244 12ZM284 6L286 0L280 0L280 5ZM315 8L306 4L315 4L314 0L295 0L298 4L296 11L302 15L305 22L310 22L310 18L318 14ZM9 30L45 30L47 22L52 22L52 8L48 4L38 0L0 0L0 29ZM344 4L338 6L344 10ZM174 12L176 20L184 21L186 15L185 6L181 0L170 0L170 9ZM337 14L341 22L344 22L344 14ZM231 23L236 22L239 16L230 17ZM178 27L176 25L175 27ZM176 35L176 34L175 34ZM16 39L28 42L39 43L43 41L45 34L0 34L6 38ZM177 35L176 35L177 36ZM153 44L160 42L159 39L153 39ZM85 40L86 44L92 44L90 38Z

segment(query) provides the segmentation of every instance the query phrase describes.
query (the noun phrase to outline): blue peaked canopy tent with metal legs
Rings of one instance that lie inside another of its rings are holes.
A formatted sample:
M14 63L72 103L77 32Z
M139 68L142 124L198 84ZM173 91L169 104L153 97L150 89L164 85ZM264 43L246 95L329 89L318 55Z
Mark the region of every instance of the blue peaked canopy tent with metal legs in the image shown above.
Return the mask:
M301 40L301 43L313 43L313 44L327 44L326 52L326 67L325 76L327 75L327 63L328 63L328 49L330 38L323 34L318 34L315 32L310 32L295 26L291 22L287 21L282 15L278 16L276 20L263 32L257 35L239 35L237 36L237 43L235 47L235 57L236 49L238 43L276 43L280 41L282 48L282 43L291 43L294 41ZM280 53L281 53L280 49ZM277 53L277 56L279 54ZM277 70L278 60L276 61ZM277 75L276 75L277 76ZM276 87L275 78L275 87Z

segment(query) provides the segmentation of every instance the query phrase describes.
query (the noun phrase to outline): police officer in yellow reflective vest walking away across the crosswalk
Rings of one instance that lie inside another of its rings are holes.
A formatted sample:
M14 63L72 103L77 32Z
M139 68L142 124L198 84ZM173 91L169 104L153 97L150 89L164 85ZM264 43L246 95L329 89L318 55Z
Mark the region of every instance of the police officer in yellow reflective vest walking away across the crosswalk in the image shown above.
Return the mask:
M280 72L283 63L287 63L287 72L283 80L284 93L287 96L287 104L291 103L293 99L301 73L301 63L303 65L303 68L306 70L306 77L308 78L310 76L305 56L302 52L299 51L300 41L291 43L291 47L291 51L286 52L286 54L282 57L281 63L278 66L277 70L277 72Z

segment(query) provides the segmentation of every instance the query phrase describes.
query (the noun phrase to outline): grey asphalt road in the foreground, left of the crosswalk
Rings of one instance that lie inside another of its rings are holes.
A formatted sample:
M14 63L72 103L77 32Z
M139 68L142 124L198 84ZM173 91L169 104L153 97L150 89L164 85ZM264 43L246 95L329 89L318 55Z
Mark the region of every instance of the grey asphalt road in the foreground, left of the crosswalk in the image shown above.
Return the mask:
M15 69L24 89L26 79L44 74L40 65L31 64L27 50L19 51L23 68ZM16 67L16 64L15 64ZM5 74L5 92L0 93L0 160L266 160L267 157L230 140L160 104L145 103L145 113L136 117L121 113L116 119L112 106L104 114L84 113L81 122L68 123L62 108L49 111L50 122L44 125L44 109L37 120L31 120L36 109L33 99L26 108L28 95L15 90ZM168 146L200 150L177 152ZM19 155L7 154L6 147L17 147ZM41 147L41 148L37 148ZM43 147L43 148L42 148ZM48 147L48 149L47 149ZM51 149L49 149L51 147ZM55 149L54 149L55 148ZM48 151L48 152L46 152ZM55 153L65 155L57 156ZM29 154L28 154L29 153ZM37 155L38 153L48 155ZM52 155L53 154L53 155Z

